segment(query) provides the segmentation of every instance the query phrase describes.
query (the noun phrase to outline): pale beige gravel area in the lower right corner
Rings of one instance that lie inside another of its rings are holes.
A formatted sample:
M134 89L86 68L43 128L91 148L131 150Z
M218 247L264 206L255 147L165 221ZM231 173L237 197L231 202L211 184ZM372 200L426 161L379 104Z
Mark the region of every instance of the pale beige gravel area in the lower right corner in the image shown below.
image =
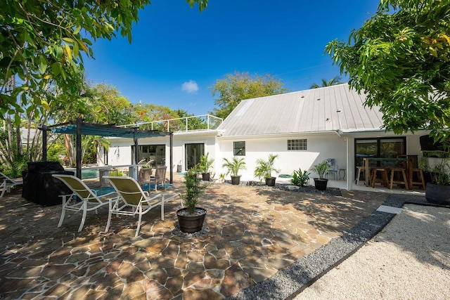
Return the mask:
M449 242L450 209L407 204L295 299L450 299Z

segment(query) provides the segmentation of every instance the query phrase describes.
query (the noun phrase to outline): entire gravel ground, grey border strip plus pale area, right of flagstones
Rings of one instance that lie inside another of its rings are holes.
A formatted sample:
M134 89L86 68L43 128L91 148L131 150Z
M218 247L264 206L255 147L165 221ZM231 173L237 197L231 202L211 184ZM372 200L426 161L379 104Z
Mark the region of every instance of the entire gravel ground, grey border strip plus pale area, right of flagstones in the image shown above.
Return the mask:
M374 211L232 299L450 299L450 209L411 204L428 203L390 195L401 214Z

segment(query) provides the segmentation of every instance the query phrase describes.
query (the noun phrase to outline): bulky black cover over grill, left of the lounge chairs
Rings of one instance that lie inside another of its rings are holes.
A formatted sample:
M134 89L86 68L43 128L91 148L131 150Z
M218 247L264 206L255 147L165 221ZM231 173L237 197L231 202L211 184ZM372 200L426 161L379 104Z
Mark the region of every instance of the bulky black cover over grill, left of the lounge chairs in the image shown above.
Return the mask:
M64 171L59 162L29 162L28 171L23 172L22 197L44 207L61 204L59 195L72 192L52 174L73 175L74 172Z

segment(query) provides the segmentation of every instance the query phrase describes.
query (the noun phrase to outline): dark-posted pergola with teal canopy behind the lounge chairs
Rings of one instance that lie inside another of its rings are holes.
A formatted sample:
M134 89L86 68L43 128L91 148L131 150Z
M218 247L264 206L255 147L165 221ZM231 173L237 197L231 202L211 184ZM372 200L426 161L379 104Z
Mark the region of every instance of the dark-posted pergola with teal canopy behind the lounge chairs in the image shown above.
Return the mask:
M47 160L47 131L52 131L53 133L63 133L76 135L76 150L77 150L77 177L82 178L82 136L103 136L103 137L115 137L115 138L132 138L134 141L134 162L136 164L136 159L138 157L138 140L139 138L151 138L160 136L169 136L170 145L170 158L169 167L170 172L170 183L173 183L173 132L160 132L155 130L139 130L137 128L124 128L117 127L114 125L102 125L102 124L92 124L85 123L81 117L77 120L65 122L62 124L55 124L51 126L41 126L39 129L42 131L42 160L45 162Z

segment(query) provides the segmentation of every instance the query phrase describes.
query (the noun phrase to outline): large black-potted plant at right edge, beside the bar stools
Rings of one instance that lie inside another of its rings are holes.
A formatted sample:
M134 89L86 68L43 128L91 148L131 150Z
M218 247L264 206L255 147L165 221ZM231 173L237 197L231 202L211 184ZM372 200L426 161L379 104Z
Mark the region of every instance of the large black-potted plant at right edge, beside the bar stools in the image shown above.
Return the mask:
M428 153L422 160L428 173L425 198L430 203L450 204L450 155L449 151ZM432 156L432 157L430 157Z

